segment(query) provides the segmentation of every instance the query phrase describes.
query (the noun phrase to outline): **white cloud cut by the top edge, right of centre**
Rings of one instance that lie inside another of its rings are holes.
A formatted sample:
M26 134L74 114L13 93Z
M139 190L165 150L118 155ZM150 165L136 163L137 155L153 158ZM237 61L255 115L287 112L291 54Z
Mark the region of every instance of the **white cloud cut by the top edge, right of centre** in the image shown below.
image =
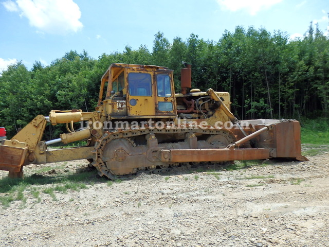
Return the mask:
M217 0L221 8L230 11L246 10L250 15L255 15L262 9L268 9L282 0Z

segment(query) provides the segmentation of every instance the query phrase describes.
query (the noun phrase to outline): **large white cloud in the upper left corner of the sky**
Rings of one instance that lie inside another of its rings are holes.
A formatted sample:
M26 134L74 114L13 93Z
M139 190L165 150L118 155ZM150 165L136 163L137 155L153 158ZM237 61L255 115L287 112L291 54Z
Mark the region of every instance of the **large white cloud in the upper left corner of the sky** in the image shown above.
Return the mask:
M79 6L72 0L9 0L3 5L8 11L20 12L41 32L67 34L83 27Z

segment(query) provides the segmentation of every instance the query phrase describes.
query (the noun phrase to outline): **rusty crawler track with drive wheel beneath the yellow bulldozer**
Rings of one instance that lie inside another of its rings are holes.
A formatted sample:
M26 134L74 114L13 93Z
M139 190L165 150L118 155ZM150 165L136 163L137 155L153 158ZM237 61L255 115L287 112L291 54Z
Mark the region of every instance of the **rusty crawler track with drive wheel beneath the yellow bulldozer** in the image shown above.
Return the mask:
M178 167L179 165L181 165L180 163L165 163L165 162L160 162L160 161L154 161L154 163L152 163L152 165L145 165L145 163L140 163L136 160L137 164L135 164L136 162L132 162L134 164L131 163L131 165L129 164L129 162L125 161L124 158L120 156L120 153L118 154L117 152L117 145L112 145L110 144L110 142L112 143L119 143L119 139L122 140L122 143L124 143L124 145L129 146L130 148L135 148L137 147L138 149L144 149L145 152L141 152L140 154L138 154L139 156L145 156L147 155L148 151L150 150L150 148L148 148L148 146L150 146L150 143L148 142L148 144L146 145L138 145L136 146L133 139L134 137L137 136L152 136L154 138L154 135L157 134L180 134L180 135L184 135L188 136L189 133L193 133L195 135L198 136L208 136L207 140L198 140L197 143L198 145L203 145L209 148L209 145L213 146L214 142L216 144L215 147L217 148L223 148L226 147L228 144L231 144L235 141L235 136L228 130L218 130L218 129L214 129L213 127L209 127L209 128L199 128L198 126L189 126L188 129L179 129L177 127L169 127L169 128L165 128L165 129L151 129L151 128L143 128L143 129L126 129L126 130L117 130L114 132L105 132L105 134L98 140L96 140L95 143L95 150L93 151L94 153L94 158L93 158L93 162L92 165L94 167L96 167L96 169L99 171L98 174L102 177L103 175L105 175L108 179L114 180L117 178L117 175L125 175L125 174L132 174L132 173L136 173L136 172L143 172L143 171L147 171L147 172L152 172L152 173L162 173L162 172L168 172L171 169L174 169L176 167ZM194 135L193 135L194 136ZM218 138L216 138L216 136ZM224 139L224 140L223 140ZM113 142L114 140L116 140L116 142ZM187 140L187 139L185 139ZM220 141L221 140L221 141ZM184 139L183 139L184 141ZM184 142L181 142L184 143ZM181 147L181 143L160 143L159 146L161 145L166 145L167 147L171 147L172 149L180 149ZM157 145L157 143L156 143ZM158 147L161 148L161 147ZM109 151L108 151L109 150ZM125 170L120 171L119 173L114 172L113 169L111 168L111 164L109 164L106 161L106 156L108 156L108 152L111 152L113 159L115 158L117 161L116 164L119 164L119 166L122 165L122 167L125 167ZM126 156L130 156L131 157L131 153L127 151L127 153L125 153L124 151L122 151L122 153L124 153ZM137 155L136 155L137 157ZM121 158L121 160L120 160Z

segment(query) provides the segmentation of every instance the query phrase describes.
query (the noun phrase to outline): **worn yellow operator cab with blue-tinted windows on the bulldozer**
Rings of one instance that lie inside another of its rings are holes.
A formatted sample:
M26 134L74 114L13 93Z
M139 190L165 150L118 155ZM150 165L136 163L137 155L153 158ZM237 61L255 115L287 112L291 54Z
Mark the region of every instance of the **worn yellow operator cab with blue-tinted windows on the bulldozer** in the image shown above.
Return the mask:
M109 119L176 117L173 70L111 64L101 79L98 109Z

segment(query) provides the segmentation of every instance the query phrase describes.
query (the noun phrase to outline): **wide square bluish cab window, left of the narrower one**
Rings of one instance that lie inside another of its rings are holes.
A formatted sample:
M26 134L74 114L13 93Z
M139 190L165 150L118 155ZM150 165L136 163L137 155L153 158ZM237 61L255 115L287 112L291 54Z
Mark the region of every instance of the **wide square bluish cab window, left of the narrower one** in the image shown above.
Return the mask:
M145 73L129 73L129 94L131 96L152 96L151 75Z

